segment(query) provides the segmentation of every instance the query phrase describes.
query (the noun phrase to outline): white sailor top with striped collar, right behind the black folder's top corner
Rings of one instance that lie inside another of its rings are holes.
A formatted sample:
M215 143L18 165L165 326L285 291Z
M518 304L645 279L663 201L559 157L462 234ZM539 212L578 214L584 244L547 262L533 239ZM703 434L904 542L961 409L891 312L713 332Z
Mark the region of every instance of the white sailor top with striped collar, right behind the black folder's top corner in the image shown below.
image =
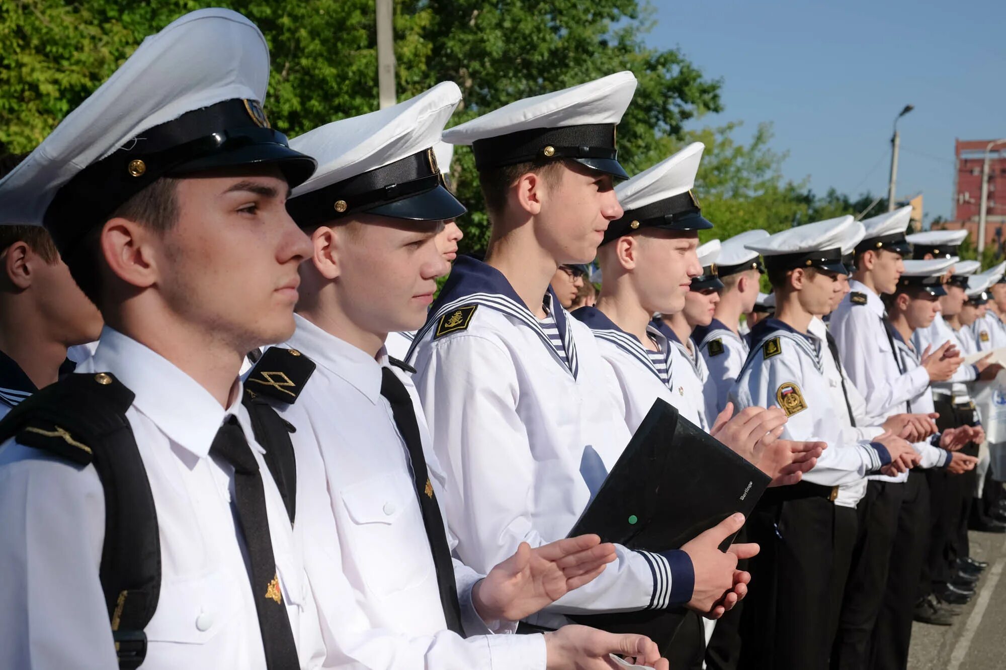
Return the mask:
M675 347L653 324L649 324L646 330L667 361L666 371L654 365L651 359L653 352L646 349L635 335L619 328L598 308L581 307L573 312L573 317L594 332L598 351L615 372L619 391L625 400L629 431L636 432L658 397L676 407L692 424L699 425L701 418L697 406L674 384L676 370L673 368L672 352Z

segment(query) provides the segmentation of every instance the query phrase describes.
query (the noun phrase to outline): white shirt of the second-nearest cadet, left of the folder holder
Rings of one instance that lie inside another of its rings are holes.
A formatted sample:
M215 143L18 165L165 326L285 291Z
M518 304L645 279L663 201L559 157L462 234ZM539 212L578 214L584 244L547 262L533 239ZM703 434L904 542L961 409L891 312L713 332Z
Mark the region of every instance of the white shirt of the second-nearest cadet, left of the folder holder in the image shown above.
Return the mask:
M296 315L285 344L317 367L293 404L275 403L297 428L297 524L311 542L305 562L321 613L327 666L544 668L541 636L516 623L486 625L472 605L481 574L455 559L463 639L448 630L430 542L405 443L381 395L383 367L359 348ZM415 388L412 397L430 480L443 499L444 474L430 445ZM253 375L255 372L253 372ZM449 543L451 535L448 533ZM453 545L453 543L452 543Z

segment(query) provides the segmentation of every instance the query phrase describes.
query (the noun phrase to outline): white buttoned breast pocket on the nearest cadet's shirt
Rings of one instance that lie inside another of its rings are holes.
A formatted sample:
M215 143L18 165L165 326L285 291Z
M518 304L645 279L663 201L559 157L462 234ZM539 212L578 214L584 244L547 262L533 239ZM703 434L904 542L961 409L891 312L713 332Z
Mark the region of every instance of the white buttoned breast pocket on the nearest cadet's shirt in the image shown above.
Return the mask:
M147 625L147 639L152 642L205 644L232 621L240 603L235 578L214 572L194 579L161 583L157 612Z

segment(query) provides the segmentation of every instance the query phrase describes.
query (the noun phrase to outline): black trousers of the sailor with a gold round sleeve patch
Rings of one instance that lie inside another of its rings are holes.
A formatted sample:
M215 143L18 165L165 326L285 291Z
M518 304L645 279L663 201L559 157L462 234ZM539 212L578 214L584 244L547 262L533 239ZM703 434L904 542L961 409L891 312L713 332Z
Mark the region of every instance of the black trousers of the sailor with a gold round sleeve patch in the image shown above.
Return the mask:
M737 667L828 667L829 631L839 609L830 599L836 580L845 580L842 559L836 556L851 550L855 535L855 515L841 509L826 497L779 500L767 493L751 513L748 538L761 551L749 562L751 581L740 617L743 644Z

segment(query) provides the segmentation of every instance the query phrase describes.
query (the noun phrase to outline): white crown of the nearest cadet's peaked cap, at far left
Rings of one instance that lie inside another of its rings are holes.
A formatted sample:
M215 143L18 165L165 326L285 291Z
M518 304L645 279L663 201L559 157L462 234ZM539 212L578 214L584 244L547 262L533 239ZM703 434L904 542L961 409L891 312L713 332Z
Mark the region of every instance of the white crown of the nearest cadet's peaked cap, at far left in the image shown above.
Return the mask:
M266 39L237 12L172 21L0 180L0 221L40 224L60 187L145 130L227 100L262 103L268 85Z

